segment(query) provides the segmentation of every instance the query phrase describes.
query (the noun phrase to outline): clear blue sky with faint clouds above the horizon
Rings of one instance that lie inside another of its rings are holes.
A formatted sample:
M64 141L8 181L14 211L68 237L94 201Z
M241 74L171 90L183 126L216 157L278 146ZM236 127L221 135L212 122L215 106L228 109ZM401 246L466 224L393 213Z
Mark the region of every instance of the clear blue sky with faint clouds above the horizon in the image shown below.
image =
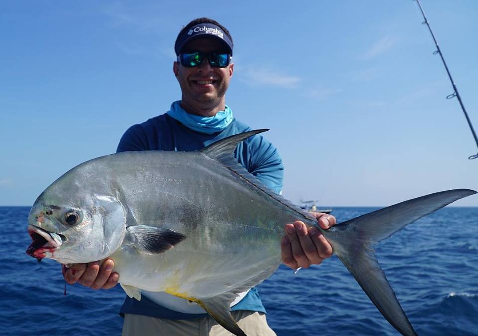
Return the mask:
M421 4L478 127L478 1ZM387 206L478 190L478 149L412 0L2 0L0 205L32 205L180 99L174 41L202 16L232 34L226 103L270 129L286 198Z

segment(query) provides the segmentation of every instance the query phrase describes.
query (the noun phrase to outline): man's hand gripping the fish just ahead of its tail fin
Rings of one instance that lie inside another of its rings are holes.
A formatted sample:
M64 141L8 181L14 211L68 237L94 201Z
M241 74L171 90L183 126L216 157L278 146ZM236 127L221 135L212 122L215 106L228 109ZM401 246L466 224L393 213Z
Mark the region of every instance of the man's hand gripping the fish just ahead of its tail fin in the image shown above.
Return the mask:
M323 229L336 224L335 217L324 213L312 213ZM332 255L332 246L315 227L307 228L304 222L296 221L284 226L282 238L282 262L292 269L318 265Z

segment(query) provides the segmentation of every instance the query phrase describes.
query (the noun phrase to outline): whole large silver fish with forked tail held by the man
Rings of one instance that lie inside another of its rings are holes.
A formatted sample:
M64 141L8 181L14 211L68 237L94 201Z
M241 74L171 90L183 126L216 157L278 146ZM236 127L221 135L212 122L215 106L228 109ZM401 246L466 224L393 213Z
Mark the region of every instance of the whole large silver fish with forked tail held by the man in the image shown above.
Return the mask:
M63 264L110 257L129 296L140 300L143 290L195 301L224 328L245 335L230 303L277 269L283 226L301 220L321 230L392 326L416 335L373 247L476 192L430 194L323 230L233 158L240 141L263 131L234 135L198 152L124 152L78 165L35 201L27 253Z

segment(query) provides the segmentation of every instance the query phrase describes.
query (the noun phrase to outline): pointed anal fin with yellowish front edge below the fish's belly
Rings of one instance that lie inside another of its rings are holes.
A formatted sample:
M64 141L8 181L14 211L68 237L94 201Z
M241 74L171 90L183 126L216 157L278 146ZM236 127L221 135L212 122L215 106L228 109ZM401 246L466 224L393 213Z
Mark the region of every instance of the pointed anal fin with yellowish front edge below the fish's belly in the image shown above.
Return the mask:
M225 294L210 299L202 299L198 304L226 330L237 336L247 336L231 315L231 302L236 295Z

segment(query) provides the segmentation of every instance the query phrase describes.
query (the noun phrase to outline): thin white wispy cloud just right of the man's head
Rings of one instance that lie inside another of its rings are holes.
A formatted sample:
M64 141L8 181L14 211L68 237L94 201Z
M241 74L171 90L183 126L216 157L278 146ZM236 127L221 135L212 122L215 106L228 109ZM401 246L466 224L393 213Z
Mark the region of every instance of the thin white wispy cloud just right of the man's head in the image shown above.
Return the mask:
M272 69L260 67L245 67L240 69L240 80L251 86L277 86L281 88L295 88L301 79Z

